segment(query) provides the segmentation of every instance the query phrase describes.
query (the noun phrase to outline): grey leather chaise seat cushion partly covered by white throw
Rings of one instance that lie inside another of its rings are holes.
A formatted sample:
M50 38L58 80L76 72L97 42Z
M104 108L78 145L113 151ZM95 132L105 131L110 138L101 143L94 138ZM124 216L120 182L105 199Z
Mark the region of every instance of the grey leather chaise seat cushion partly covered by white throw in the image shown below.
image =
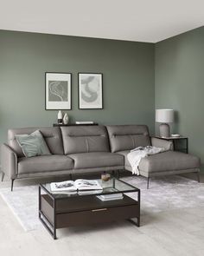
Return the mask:
M124 155L124 167L131 167L127 159L129 150L118 152ZM177 151L166 151L144 157L139 163L139 170L146 173L158 173L163 171L186 170L200 168L200 159L192 154L184 154Z

